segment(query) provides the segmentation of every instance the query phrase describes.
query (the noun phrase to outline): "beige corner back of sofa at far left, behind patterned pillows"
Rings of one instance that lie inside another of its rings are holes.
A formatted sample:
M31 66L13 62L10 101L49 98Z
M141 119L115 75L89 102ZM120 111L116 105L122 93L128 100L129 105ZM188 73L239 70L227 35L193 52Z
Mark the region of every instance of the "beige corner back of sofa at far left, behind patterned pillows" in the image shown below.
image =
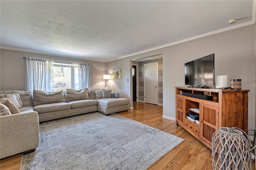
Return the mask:
M21 90L1 90L0 94L14 94L17 93L20 95L23 106L32 106L32 94L29 91Z

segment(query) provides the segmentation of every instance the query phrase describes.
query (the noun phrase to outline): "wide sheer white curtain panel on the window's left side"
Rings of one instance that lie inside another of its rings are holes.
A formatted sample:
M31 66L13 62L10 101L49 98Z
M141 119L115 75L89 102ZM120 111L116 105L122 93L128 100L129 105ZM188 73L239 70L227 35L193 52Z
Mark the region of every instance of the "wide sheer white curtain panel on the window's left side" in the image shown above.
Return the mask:
M52 61L25 57L25 90L32 93L34 89L52 92L52 67Z

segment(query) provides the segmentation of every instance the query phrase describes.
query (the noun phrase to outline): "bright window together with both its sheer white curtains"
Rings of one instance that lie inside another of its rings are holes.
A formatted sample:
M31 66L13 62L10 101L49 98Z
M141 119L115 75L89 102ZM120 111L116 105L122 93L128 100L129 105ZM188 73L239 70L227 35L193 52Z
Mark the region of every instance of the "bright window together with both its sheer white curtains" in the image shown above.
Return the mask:
M90 64L25 57L25 90L65 91L90 88Z

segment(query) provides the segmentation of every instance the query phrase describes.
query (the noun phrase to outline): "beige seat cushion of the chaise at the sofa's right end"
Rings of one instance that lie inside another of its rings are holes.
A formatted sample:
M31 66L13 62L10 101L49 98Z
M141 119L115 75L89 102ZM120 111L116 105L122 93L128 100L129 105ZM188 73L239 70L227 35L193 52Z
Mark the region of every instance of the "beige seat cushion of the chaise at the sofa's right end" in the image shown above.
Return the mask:
M129 104L129 100L125 98L104 98L97 99L98 105L104 107L114 107Z

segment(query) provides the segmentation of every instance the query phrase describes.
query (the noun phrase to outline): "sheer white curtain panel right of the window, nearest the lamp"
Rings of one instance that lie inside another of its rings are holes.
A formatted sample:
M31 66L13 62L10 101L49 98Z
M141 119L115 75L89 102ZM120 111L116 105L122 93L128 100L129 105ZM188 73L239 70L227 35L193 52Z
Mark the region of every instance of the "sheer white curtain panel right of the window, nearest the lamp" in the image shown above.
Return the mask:
M91 72L89 63L78 63L78 89L90 89Z

